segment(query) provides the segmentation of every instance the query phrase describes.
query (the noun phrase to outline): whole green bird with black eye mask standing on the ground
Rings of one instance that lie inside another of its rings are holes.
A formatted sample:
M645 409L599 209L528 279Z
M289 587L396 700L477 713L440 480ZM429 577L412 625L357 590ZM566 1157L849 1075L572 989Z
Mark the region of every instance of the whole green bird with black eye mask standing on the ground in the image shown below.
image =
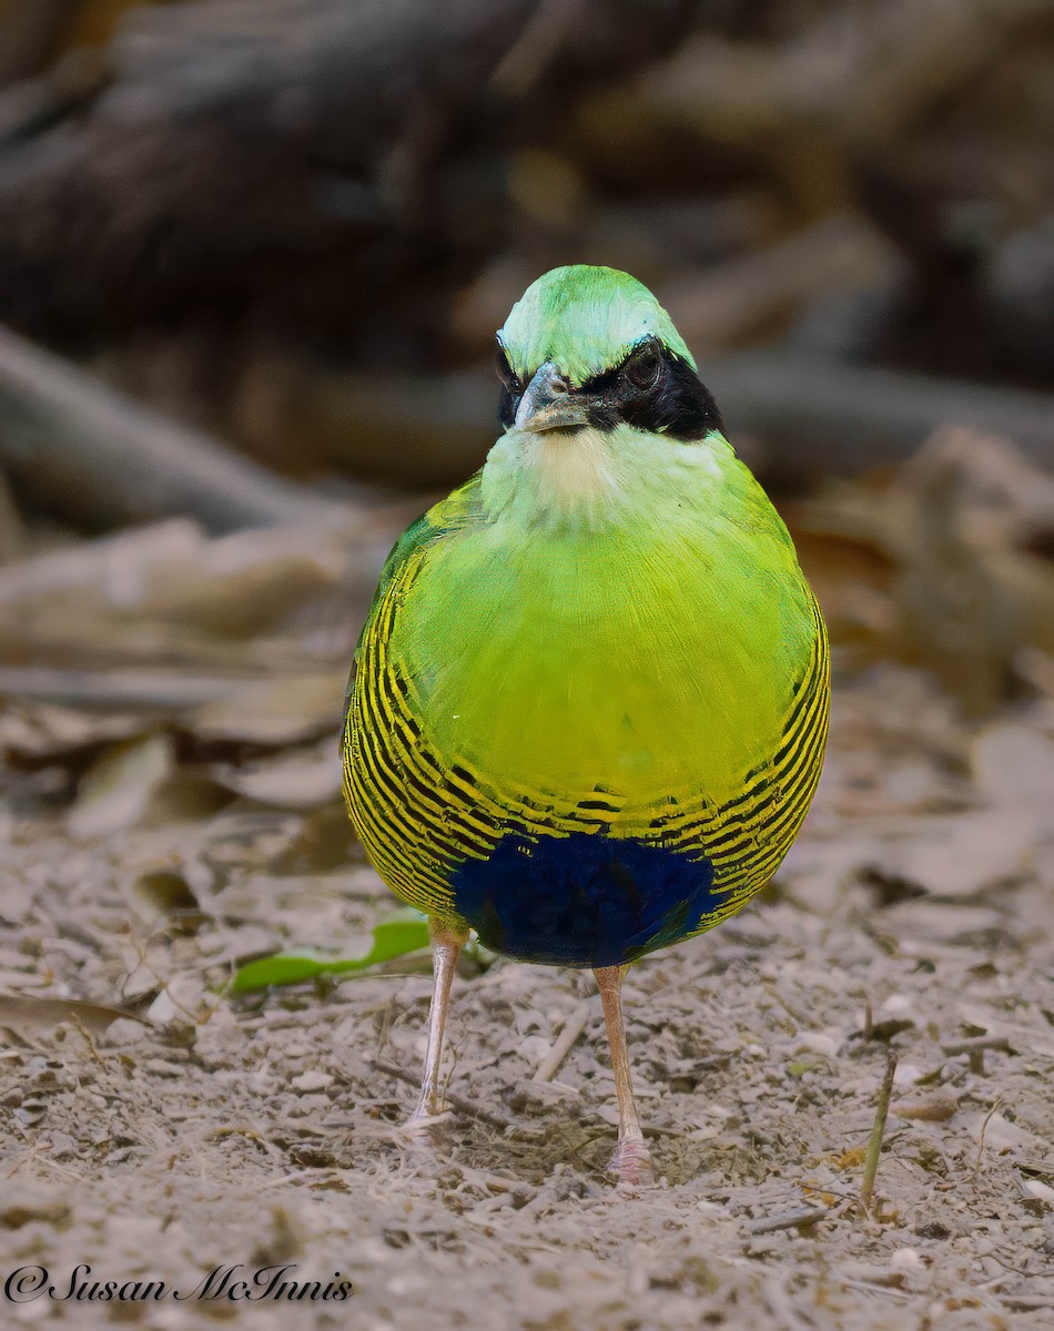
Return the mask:
M647 1182L620 1008L631 962L772 877L820 777L824 622L776 510L635 278L559 268L498 333L503 433L399 539L355 652L345 793L370 860L429 916L413 1125L442 1109L470 929L592 968Z

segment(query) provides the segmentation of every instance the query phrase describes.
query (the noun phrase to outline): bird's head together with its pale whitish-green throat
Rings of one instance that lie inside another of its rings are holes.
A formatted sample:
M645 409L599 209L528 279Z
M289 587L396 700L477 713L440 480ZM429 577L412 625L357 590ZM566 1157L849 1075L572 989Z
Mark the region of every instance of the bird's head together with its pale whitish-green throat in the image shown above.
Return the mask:
M482 496L520 528L644 530L699 500L720 435L692 353L651 291L612 268L556 268L498 333L504 434ZM628 526L627 526L628 524Z

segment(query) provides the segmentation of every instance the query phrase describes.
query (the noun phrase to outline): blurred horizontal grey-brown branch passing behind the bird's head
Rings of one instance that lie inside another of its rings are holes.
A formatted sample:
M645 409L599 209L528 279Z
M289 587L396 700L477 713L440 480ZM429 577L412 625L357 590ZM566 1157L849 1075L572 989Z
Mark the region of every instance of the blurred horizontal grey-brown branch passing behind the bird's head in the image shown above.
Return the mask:
M949 423L1013 439L1037 465L1054 465L1054 398L1042 393L832 365L784 350L704 358L699 369L732 442L757 435L767 445L751 465L771 480L798 483L904 462ZM305 429L354 471L448 484L483 463L498 433L490 369L429 375L301 366L297 373Z

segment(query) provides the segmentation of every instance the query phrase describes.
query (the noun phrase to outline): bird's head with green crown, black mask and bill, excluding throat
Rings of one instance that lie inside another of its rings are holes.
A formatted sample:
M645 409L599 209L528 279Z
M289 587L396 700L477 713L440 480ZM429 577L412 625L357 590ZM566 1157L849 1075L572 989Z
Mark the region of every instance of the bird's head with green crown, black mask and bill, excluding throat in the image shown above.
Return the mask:
M673 439L721 429L692 353L628 273L572 265L539 277L498 333L506 430L615 431Z

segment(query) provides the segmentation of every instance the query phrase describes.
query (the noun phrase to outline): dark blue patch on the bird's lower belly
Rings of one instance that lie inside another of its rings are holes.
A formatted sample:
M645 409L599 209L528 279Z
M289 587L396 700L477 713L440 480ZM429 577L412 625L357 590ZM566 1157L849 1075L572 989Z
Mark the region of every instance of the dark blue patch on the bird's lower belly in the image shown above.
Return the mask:
M452 873L454 906L518 961L616 966L693 933L727 893L713 866L665 847L590 832L507 833Z

